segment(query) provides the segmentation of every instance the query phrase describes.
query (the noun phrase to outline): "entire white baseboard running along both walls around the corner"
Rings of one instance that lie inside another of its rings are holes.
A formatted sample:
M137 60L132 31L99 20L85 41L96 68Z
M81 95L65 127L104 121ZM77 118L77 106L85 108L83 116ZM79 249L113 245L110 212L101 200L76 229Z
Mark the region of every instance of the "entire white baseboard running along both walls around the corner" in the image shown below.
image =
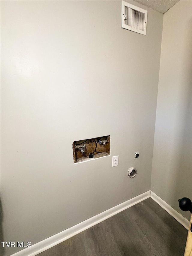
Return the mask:
M143 194L138 195L137 197L131 198L126 202L123 202L79 224L76 224L73 227L67 228L66 230L61 231L60 233L50 236L47 239L44 239L43 241L38 242L26 249L18 251L12 254L11 256L35 256L41 253L42 251L45 251L69 239L70 237L75 236L76 234L100 223L101 221L106 220L107 218L112 217L113 215L116 215L119 212L122 212L125 209L128 209L131 206L134 206L137 203L140 203L141 201L149 197L151 197L155 202L157 202L163 209L165 209L173 218L179 221L179 223L181 223L188 230L190 222L186 218L184 218L184 216L182 216L179 212L173 209L168 203L166 203L164 200L158 197L158 195L156 195L153 191L149 190Z

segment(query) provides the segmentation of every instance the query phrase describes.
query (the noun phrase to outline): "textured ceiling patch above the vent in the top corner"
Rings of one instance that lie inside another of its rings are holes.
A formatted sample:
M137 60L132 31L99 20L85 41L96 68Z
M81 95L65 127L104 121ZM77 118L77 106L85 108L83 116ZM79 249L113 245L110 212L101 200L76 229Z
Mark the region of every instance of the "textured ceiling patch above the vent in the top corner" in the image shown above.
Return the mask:
M146 5L155 11L159 11L161 13L165 13L173 5L179 2L179 0L135 0L135 1L142 5Z

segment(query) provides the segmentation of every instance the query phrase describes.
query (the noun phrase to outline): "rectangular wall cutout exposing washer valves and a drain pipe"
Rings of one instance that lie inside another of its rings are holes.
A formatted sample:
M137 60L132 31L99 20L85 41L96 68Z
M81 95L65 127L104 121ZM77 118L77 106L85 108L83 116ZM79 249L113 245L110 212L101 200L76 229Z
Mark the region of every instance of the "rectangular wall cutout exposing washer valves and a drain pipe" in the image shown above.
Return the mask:
M110 135L73 141L74 163L110 155Z

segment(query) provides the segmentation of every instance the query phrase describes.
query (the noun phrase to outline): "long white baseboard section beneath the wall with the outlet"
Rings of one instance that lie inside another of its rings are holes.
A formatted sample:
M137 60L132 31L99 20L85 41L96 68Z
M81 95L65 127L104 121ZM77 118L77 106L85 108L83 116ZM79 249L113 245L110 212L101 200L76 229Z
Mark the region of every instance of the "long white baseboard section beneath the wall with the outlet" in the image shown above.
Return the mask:
M92 218L89 218L79 224L76 224L73 227L67 228L64 231L61 231L60 233L57 233L41 242L38 242L26 249L23 249L21 251L18 251L11 256L35 256L42 251L45 251L65 240L68 238L75 236L76 234L88 229L89 227L92 227L96 224L98 224L101 221L106 220L107 218L112 217L113 215L116 215L119 212L122 212L125 209L128 209L129 207L140 203L141 201L147 199L150 197L150 190L138 195L137 197L131 198L130 200L123 202L117 206L114 206L107 211L101 212L98 215L93 216Z

